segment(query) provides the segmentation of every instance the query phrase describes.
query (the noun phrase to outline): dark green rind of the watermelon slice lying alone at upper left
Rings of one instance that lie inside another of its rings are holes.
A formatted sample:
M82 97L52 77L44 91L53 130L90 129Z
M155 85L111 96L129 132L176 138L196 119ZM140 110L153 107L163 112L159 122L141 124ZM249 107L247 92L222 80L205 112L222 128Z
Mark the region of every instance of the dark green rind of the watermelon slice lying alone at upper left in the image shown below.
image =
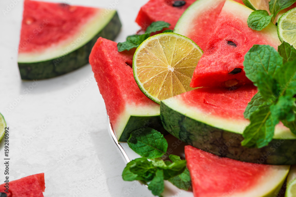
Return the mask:
M76 70L89 63L89 54L99 37L114 40L120 29L121 22L118 13L114 11L107 25L99 28L99 32L91 40L74 51L46 61L18 62L20 76L24 80L48 79Z

